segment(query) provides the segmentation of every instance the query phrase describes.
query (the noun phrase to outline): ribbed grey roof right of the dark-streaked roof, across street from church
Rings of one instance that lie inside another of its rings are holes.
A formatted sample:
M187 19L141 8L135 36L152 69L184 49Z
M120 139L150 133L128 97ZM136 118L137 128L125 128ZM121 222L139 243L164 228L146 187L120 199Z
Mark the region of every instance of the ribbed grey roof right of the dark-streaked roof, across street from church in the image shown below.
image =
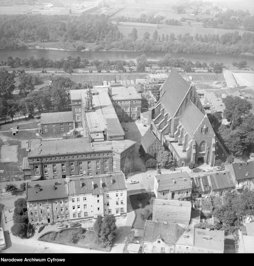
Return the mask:
M209 177L213 190L234 187L230 172L209 174Z

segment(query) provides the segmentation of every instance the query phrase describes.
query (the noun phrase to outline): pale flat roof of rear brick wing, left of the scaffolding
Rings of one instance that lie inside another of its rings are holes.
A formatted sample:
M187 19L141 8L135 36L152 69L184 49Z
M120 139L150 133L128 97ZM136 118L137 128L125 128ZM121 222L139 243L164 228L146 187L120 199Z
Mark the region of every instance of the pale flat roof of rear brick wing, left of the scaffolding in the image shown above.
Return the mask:
M141 95L137 93L136 88L132 86L128 86L127 88L124 86L111 87L111 89L112 95L110 96L110 99L112 101L142 99Z

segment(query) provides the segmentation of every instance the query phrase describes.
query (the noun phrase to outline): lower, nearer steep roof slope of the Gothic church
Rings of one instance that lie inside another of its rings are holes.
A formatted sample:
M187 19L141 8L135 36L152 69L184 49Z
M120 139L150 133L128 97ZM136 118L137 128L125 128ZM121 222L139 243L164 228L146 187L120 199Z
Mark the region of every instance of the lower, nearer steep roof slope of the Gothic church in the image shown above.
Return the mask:
M182 124L188 134L193 136L204 117L205 115L198 109L198 107L196 107L195 104L193 104L193 102L190 101L180 115L179 122Z

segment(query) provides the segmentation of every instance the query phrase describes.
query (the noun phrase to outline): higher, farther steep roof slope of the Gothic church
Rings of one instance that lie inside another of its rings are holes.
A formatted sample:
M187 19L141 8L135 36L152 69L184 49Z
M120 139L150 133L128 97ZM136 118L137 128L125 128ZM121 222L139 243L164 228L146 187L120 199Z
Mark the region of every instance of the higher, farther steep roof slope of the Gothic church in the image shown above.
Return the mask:
M176 70L171 70L170 75L160 87L162 95L160 101L170 113L171 117L174 117L190 87Z

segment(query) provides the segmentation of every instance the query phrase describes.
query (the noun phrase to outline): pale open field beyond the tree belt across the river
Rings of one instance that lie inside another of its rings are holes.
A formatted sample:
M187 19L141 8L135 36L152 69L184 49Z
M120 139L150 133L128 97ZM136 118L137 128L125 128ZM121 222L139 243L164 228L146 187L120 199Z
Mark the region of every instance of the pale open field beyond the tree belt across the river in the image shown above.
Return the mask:
M236 30L225 30L225 29L215 29L215 28L204 28L204 27L195 27L195 26L174 26L174 25L159 25L159 29L155 27L149 26L149 24L145 23L131 23L131 22L124 22L125 24L122 24L123 22L119 22L117 27L119 28L120 32L123 33L123 36L128 36L129 33L131 33L133 28L137 29L138 37L139 39L142 39L145 32L150 33L150 38L153 35L154 31L157 30L159 35L162 35L162 33L170 34L174 33L177 37L179 34L184 35L185 33L190 33L192 36L195 36L197 33L204 36L205 34L225 34L229 32L235 32ZM136 24L136 25L135 25ZM139 26L137 24L142 24L142 26ZM154 25L154 24L152 24ZM239 34L242 35L245 31L244 30L238 30Z

